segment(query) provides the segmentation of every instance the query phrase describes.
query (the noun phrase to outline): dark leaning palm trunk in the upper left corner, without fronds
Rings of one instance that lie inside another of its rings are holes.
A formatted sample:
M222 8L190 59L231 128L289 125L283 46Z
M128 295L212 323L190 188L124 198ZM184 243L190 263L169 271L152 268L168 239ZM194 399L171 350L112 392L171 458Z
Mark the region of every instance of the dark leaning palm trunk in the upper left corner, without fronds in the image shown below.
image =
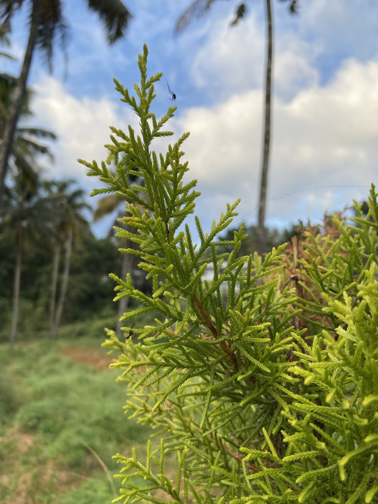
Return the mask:
M33 0L33 11L30 22L28 45L26 47L20 77L17 80L12 102L9 107L8 121L6 122L4 128L2 143L0 144L0 209L2 208L5 177L8 168L8 158L11 154L16 125L20 117L22 102L25 97L26 83L29 76L35 42L37 39L41 3L42 0Z

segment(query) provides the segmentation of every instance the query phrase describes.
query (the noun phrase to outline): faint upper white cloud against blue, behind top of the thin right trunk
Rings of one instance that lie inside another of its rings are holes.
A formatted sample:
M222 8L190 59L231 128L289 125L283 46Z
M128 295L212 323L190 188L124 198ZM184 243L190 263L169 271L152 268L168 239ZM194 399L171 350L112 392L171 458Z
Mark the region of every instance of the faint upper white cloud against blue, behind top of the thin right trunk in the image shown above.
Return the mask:
M234 92L260 89L264 81L265 26L257 12L230 28L224 17L208 24L209 35L191 62L195 85L207 96L219 100ZM211 29L210 29L211 28ZM318 71L311 66L319 53L317 44L308 44L292 32L274 41L274 87L281 98L291 99L298 89L314 85Z

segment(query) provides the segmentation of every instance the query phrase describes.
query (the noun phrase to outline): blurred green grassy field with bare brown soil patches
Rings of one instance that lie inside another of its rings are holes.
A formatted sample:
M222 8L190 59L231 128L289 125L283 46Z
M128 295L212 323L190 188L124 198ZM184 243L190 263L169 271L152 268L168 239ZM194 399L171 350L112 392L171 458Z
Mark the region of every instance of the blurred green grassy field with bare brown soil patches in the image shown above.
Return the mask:
M150 432L123 414L125 386L101 342L0 345L2 504L106 504L118 495L112 455L143 451Z

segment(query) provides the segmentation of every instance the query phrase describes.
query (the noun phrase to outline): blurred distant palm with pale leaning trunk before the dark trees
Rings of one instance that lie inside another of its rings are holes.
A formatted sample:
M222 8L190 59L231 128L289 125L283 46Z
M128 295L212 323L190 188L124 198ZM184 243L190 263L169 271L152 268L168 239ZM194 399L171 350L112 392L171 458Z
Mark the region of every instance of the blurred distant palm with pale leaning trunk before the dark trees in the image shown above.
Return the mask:
M83 210L90 206L85 202L85 192L81 189L71 190L74 180L53 180L44 182L45 199L49 202L50 236L53 241L53 260L50 292L50 336L56 338L61 314L66 300L68 281L70 277L70 260L74 236L80 239L88 231L88 221L83 217ZM60 291L56 298L58 269L61 249L65 249L63 272Z

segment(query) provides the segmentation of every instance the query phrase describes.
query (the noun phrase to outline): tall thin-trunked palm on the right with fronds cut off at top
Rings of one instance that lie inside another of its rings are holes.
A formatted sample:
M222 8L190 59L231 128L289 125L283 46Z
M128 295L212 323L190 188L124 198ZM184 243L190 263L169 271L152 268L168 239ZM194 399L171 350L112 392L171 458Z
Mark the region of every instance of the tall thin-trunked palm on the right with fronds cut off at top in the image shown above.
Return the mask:
M283 0L284 2L287 0ZM288 0L289 11L294 14L297 12L297 1ZM193 2L179 17L175 31L179 33L188 23L194 18L203 16L212 6L215 0L196 0ZM266 68L265 68L265 110L264 110L264 143L263 156L260 174L260 196L259 196L259 220L257 227L257 251L263 254L265 251L265 209L267 202L267 185L268 185L268 170L269 170L269 155L270 155L270 132L272 122L272 65L273 65L273 18L272 18L272 1L265 0L266 16L267 16L267 53L266 53ZM236 8L235 18L231 21L231 26L235 26L245 17L247 12L246 4L243 2Z

